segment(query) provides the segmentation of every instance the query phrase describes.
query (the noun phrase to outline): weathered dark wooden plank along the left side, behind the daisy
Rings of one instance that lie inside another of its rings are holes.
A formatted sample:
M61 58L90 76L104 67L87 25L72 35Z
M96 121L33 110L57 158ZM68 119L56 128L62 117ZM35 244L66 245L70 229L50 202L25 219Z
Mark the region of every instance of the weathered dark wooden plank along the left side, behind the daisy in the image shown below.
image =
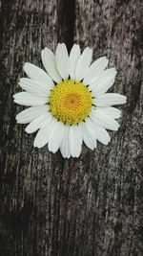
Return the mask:
M41 65L41 49L57 44L57 4L2 1L1 255L52 255L58 246L54 219L62 158L32 148L33 136L14 120L22 107L12 100L23 63Z

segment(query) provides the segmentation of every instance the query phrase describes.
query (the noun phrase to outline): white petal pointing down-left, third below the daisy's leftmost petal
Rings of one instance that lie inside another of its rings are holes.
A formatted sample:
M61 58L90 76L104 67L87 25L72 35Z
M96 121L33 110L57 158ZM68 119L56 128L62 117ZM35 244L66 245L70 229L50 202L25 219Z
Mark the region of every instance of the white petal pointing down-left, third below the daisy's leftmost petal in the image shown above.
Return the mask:
M51 130L54 127L56 122L57 122L56 119L52 118L49 124L45 128L39 129L33 142L34 147L42 148L49 142Z

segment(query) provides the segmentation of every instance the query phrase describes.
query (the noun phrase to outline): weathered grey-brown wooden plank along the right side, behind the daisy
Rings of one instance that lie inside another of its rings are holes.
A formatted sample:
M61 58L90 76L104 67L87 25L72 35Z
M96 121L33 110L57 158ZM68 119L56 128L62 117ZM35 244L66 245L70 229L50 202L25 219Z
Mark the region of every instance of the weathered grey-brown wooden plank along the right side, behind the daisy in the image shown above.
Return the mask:
M141 2L133 0L76 1L75 40L90 45L94 58L110 58L110 66L118 70L112 91L128 96L127 105L121 107L121 128L112 133L110 146L99 146L89 156L92 209L88 206L86 212L83 255L137 256L143 251L140 7Z

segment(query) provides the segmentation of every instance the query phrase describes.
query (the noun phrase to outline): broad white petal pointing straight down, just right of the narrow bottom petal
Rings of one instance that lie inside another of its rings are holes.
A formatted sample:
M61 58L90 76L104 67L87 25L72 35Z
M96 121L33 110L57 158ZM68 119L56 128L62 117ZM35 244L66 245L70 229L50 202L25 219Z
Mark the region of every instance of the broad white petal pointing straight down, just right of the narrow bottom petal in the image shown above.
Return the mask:
M77 126L72 126L69 132L70 151L72 157L79 157L82 146L82 136Z

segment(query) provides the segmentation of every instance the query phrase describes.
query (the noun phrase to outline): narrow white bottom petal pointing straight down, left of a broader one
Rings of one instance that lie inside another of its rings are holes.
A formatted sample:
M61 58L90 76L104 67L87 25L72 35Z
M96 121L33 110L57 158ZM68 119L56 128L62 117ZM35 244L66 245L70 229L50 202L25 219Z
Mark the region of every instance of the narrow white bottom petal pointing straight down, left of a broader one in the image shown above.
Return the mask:
M64 136L63 136L62 144L60 147L61 154L63 155L64 158L71 157L69 132L70 132L70 126L65 125Z

